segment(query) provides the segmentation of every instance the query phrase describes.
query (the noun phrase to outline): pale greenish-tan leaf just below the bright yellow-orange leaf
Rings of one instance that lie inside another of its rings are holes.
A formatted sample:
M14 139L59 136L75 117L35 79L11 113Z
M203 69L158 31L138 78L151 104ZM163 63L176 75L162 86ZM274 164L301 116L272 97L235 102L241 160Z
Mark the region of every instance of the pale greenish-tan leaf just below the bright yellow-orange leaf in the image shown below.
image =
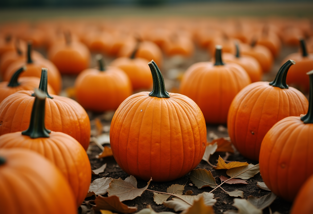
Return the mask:
M240 166L236 168L232 168L226 171L226 174L231 178L241 178L241 179L249 179L253 177L260 171L259 164L253 165L249 164L248 166Z

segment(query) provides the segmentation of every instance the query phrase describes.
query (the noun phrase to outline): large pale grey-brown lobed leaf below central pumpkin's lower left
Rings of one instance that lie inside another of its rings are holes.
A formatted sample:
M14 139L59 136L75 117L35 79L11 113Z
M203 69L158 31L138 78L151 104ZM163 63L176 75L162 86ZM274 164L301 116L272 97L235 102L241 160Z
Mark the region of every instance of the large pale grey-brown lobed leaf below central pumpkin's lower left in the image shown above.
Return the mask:
M137 180L134 176L129 176L124 180L112 179L110 183L110 187L108 188L109 196L118 196L121 201L131 200L136 198L137 196L141 196L141 194L148 188L150 182L148 181L147 186L138 189L137 188Z

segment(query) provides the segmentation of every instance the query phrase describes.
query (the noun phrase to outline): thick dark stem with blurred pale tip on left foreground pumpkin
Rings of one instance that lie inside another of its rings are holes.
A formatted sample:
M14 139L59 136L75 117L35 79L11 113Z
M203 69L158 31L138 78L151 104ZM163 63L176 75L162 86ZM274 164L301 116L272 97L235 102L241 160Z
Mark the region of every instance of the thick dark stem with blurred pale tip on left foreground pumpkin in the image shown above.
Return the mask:
M33 104L32 115L28 129L22 131L22 135L27 135L30 138L50 137L51 131L44 126L46 94L40 89L35 89L35 101Z

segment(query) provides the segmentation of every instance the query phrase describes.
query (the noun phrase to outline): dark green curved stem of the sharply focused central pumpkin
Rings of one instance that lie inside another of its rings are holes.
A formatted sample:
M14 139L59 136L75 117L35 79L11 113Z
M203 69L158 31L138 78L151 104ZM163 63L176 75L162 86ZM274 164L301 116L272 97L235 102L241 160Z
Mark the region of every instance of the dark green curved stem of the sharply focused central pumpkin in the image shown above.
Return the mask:
M153 81L153 90L150 92L150 97L158 97L158 98L170 98L170 95L165 90L164 79L161 74L160 69L157 67L156 63L151 60L148 63L151 74L152 74L152 81Z

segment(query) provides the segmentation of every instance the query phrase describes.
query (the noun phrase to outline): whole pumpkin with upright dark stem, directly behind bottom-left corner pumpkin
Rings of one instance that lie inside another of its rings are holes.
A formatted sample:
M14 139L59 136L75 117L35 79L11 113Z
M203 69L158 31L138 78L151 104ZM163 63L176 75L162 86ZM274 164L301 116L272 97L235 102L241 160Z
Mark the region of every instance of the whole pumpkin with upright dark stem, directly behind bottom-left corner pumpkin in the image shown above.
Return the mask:
M54 163L65 176L77 206L87 195L91 167L84 148L73 137L47 130L44 125L46 94L37 89L29 127L25 131L0 136L0 148L25 148L36 151ZM29 116L29 115L28 115Z

